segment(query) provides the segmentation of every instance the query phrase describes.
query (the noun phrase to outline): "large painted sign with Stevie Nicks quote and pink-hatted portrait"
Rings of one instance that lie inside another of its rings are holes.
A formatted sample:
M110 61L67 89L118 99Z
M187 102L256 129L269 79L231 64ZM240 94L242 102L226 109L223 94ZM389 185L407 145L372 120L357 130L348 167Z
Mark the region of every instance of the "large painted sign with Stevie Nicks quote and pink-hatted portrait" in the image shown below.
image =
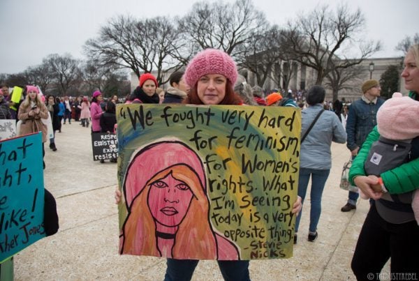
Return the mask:
M118 105L121 254L293 255L300 109Z

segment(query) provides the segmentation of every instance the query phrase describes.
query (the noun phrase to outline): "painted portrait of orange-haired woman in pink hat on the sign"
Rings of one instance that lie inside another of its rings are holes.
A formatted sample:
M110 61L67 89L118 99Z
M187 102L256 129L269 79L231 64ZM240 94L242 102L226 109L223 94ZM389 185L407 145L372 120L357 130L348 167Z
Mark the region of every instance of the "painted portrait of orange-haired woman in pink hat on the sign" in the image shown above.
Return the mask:
M173 259L240 259L236 246L210 223L203 162L177 141L133 154L123 191L128 215L119 251Z

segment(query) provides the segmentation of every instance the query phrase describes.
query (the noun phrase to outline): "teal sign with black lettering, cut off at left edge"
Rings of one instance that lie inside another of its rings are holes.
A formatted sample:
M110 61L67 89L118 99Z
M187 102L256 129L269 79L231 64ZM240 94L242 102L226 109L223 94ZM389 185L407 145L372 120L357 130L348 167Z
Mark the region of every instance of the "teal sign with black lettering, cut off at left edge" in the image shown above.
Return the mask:
M0 142L0 262L45 237L42 135Z

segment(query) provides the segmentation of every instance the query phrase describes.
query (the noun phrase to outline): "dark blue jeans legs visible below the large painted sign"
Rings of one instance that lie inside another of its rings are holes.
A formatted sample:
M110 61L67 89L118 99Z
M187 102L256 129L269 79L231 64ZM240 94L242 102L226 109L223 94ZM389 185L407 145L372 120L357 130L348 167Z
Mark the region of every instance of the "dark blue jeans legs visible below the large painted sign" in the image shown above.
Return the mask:
M165 281L191 280L198 265L196 259L168 259ZM249 281L249 261L218 261L221 274L226 281Z

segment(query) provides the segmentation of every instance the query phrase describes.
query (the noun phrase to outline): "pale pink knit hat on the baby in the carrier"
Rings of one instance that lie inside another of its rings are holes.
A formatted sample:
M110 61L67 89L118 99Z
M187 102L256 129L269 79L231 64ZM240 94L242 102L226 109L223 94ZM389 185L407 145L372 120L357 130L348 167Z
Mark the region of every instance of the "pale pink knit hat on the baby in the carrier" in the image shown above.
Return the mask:
M377 128L386 139L413 139L419 136L419 102L402 93L393 93L377 112Z

